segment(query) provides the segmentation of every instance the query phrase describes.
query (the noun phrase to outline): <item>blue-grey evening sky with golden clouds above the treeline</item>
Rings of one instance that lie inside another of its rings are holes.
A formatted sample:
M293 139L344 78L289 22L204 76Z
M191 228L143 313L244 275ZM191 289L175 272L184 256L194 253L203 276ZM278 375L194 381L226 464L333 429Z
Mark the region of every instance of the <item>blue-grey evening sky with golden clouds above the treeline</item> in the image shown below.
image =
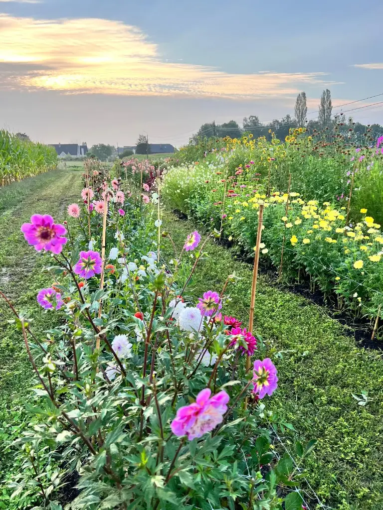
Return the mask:
M205 122L293 115L300 91L316 118L325 88L333 113L383 124L382 16L376 0L0 0L0 127L179 147Z

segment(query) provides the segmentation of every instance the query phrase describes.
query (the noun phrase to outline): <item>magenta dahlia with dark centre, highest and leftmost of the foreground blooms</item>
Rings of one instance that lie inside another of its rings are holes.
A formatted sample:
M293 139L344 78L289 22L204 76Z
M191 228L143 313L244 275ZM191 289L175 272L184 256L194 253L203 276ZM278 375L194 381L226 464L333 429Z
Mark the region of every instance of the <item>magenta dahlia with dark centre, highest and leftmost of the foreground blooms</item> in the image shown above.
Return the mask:
M44 249L56 255L61 253L63 245L68 241L66 237L61 237L66 234L64 225L54 223L49 214L34 214L31 216L31 223L21 226L21 232L37 251Z

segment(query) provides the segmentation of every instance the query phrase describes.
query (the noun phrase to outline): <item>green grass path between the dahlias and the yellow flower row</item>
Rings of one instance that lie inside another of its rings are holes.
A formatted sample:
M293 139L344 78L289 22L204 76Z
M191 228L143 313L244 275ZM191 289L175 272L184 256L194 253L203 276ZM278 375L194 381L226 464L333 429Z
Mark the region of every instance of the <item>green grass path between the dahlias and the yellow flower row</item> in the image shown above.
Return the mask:
M163 228L180 249L195 228L166 213ZM195 297L220 291L228 274L242 279L229 287L231 303L223 312L248 322L252 267L211 241L209 259L192 279ZM169 247L169 255L174 256ZM383 508L383 360L376 352L357 348L352 336L326 310L301 296L278 290L265 276L258 278L255 331L280 353L276 359L279 387L268 407L278 410L296 428L283 440L317 439L307 462L308 480L324 504L342 510ZM368 392L365 407L352 393Z

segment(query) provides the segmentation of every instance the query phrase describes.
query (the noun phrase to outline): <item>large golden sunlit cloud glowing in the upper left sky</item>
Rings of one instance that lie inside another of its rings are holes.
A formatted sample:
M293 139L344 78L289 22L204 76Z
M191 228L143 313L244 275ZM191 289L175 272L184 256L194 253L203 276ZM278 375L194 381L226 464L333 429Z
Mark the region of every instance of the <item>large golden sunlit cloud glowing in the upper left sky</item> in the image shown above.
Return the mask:
M0 0L1 1L1 0ZM328 84L323 72L227 73L161 59L139 29L107 19L0 15L0 87L64 93L227 98L283 97ZM16 64L37 66L25 72Z

